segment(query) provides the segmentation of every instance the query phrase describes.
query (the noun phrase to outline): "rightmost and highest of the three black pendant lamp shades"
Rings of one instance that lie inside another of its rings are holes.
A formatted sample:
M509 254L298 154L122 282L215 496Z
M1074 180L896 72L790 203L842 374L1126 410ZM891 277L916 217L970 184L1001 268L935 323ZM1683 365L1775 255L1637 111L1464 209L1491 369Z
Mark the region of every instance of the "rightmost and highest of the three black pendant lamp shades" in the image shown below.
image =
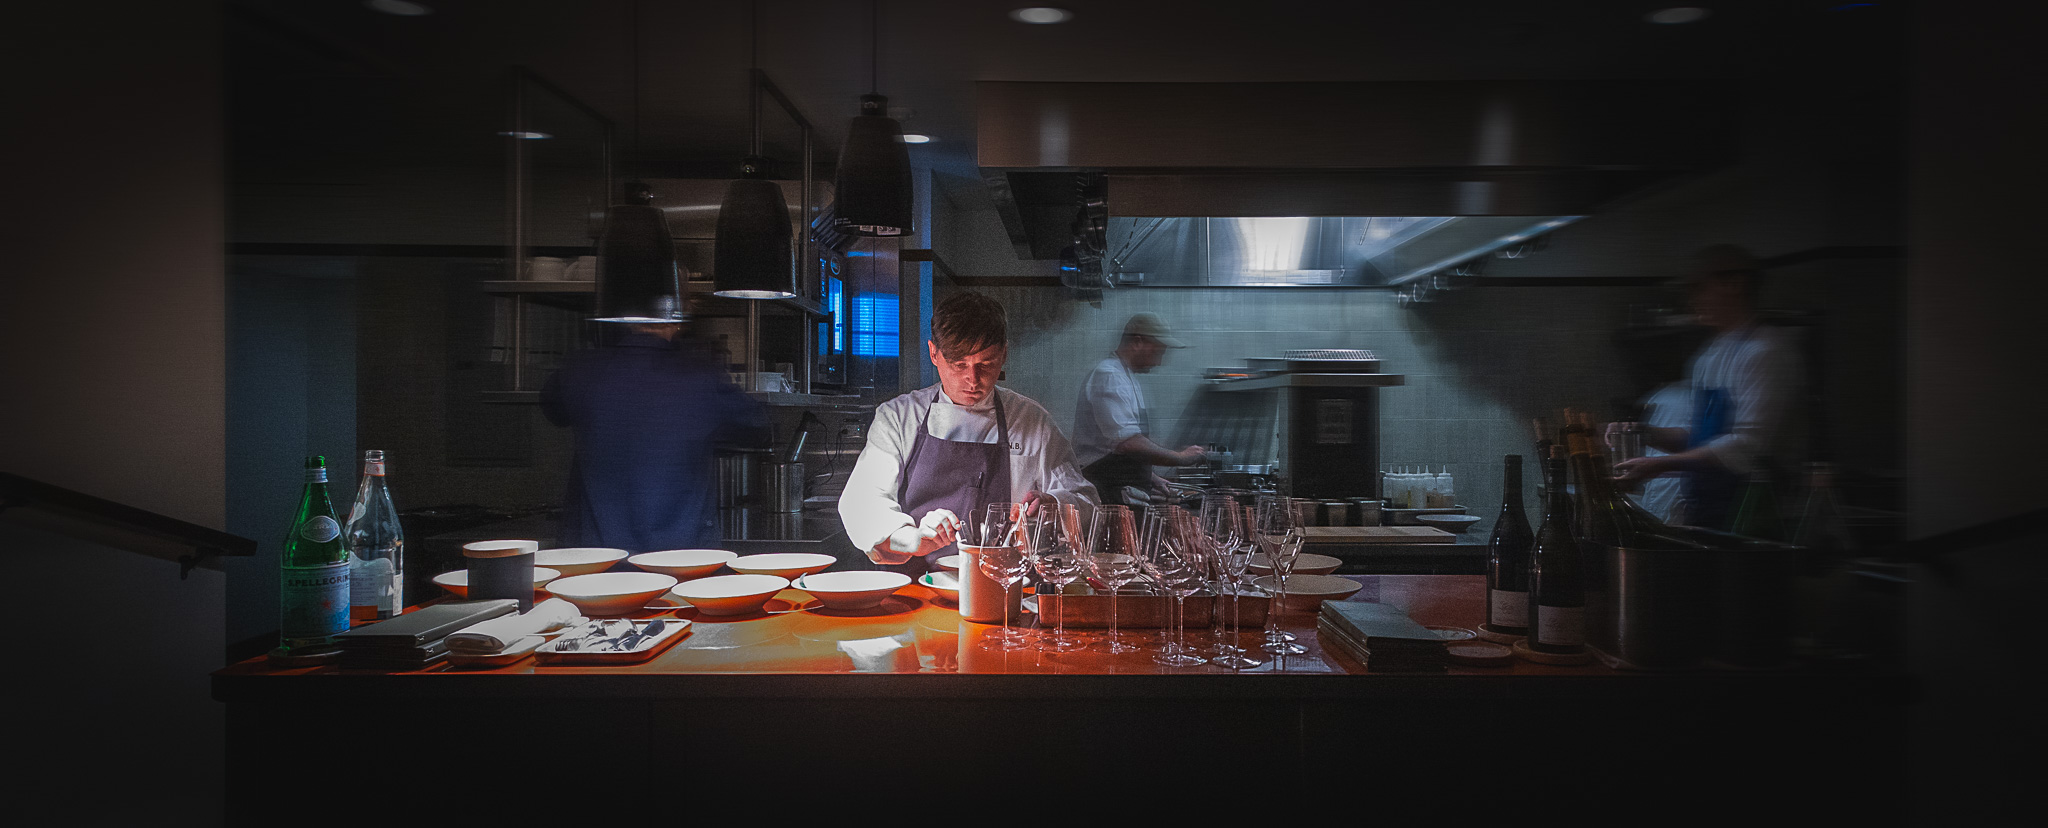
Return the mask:
M831 230L846 236L905 236L911 227L909 148L889 115L889 98L860 96L840 148Z

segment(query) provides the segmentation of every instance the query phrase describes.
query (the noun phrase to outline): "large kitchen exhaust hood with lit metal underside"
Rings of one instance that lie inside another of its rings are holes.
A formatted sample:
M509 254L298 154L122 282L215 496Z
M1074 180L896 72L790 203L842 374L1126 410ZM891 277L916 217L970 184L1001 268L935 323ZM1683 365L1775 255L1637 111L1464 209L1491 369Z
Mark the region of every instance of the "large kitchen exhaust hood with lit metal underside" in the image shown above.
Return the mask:
M977 160L1022 258L1106 203L1114 285L1397 285L1726 164L1702 80L979 82ZM1071 254L1071 250L1069 250Z

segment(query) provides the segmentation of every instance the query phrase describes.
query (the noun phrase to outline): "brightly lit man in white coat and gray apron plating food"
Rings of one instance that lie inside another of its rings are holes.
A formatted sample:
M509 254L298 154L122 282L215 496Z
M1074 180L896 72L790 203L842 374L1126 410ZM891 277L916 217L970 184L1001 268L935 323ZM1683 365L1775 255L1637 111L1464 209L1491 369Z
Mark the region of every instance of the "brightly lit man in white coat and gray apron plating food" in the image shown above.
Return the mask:
M854 547L915 578L954 551L961 521L983 504L1077 504L1085 523L1096 490L1073 465L1073 447L1044 406L995 385L1010 357L1004 305L979 293L946 297L926 350L938 385L874 408L840 494Z

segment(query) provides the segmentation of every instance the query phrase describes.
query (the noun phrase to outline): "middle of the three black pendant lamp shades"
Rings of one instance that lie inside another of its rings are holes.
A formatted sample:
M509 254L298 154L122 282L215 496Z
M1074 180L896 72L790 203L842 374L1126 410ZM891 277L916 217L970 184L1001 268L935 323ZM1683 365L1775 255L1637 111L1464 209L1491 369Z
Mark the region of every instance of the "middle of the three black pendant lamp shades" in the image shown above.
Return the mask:
M739 166L739 178L725 184L711 266L719 281L717 295L733 299L797 295L788 201L782 199L782 187L766 178L764 168L764 158L748 156Z

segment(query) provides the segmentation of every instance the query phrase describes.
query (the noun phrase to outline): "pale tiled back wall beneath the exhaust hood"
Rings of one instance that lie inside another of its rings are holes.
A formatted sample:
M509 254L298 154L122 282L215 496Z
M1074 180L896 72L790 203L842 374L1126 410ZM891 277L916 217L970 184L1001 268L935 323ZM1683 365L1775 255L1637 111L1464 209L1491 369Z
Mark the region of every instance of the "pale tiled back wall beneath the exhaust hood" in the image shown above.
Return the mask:
M1059 289L983 289L1010 309L1004 385L1071 428L1079 383L1116 346L1124 320L1159 314L1188 348L1141 377L1153 432L1184 437L1202 369L1288 348L1368 348L1407 385L1380 391L1382 463L1450 465L1458 502L1491 525L1501 457L1530 455L1530 418L1628 398L1612 344L1647 287L1485 287L1413 309L1362 289L1118 289L1094 307ZM1526 482L1534 508L1534 469Z

